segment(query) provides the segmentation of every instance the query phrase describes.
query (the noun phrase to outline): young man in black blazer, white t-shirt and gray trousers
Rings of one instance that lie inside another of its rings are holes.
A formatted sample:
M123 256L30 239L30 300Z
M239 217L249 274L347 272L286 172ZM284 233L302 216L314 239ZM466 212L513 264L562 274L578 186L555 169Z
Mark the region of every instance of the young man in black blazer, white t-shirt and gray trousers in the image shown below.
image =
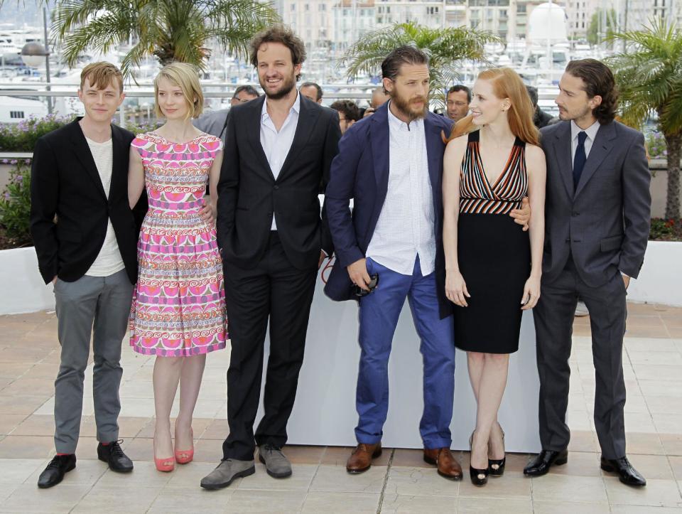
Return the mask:
M40 474L40 488L55 486L75 468L91 333L97 455L113 471L133 469L117 442L117 419L121 340L137 280L136 222L128 201L134 135L111 124L124 100L114 65L87 65L78 96L85 116L38 139L31 169L31 235L40 274L54 284L62 347L55 381L57 455Z

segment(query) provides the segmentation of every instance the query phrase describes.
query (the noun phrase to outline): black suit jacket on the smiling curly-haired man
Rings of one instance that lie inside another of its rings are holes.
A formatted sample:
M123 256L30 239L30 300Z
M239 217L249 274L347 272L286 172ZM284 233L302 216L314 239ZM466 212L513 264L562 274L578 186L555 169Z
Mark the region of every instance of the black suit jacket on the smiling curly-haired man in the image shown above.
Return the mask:
M217 237L223 259L256 266L266 250L273 215L284 252L297 269L316 267L333 246L318 193L326 184L341 137L335 110L301 95L296 134L275 180L261 146L265 96L232 107L218 182Z

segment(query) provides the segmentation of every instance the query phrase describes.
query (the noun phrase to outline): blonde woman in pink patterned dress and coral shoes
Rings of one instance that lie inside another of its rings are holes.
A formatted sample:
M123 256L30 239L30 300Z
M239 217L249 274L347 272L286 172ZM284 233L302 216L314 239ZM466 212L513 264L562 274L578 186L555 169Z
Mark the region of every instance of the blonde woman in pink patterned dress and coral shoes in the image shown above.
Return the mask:
M156 114L166 124L139 134L130 151L130 204L137 203L144 188L149 202L138 243L130 344L138 353L156 355L154 462L158 471L173 471L176 461L193 459L192 418L206 354L227 341L214 221L222 141L192 125L203 105L192 66L165 66L154 90ZM210 210L202 209L207 183ZM174 450L170 417L178 383Z

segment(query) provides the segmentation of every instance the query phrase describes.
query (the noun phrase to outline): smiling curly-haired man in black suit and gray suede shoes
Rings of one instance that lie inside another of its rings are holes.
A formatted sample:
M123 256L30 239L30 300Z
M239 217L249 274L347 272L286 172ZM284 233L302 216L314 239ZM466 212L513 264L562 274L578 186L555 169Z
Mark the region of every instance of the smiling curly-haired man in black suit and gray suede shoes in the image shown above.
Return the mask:
M281 452L303 362L317 269L332 243L318 191L338 151L339 118L296 90L301 39L282 26L256 34L251 63L265 96L227 122L218 183L217 237L229 336L224 460L201 481L217 489L254 473L254 450L271 476L291 475ZM265 414L254 435L264 340L270 324Z

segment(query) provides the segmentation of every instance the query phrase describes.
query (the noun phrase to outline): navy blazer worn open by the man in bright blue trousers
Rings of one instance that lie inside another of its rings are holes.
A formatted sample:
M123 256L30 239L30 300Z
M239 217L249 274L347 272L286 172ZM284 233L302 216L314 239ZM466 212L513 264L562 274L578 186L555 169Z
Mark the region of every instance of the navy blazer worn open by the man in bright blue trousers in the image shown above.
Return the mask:
M339 154L332 163L325 205L334 240L336 262L325 287L333 300L355 296L346 267L362 259L367 252L374 228L386 200L389 186L389 102L369 118L355 123L339 144ZM445 255L443 254L443 152L441 132L450 134L453 123L447 117L429 112L424 119L428 176L431 179L435 210L435 277L438 283L440 316L452 313L445 298ZM350 211L350 199L353 210Z

